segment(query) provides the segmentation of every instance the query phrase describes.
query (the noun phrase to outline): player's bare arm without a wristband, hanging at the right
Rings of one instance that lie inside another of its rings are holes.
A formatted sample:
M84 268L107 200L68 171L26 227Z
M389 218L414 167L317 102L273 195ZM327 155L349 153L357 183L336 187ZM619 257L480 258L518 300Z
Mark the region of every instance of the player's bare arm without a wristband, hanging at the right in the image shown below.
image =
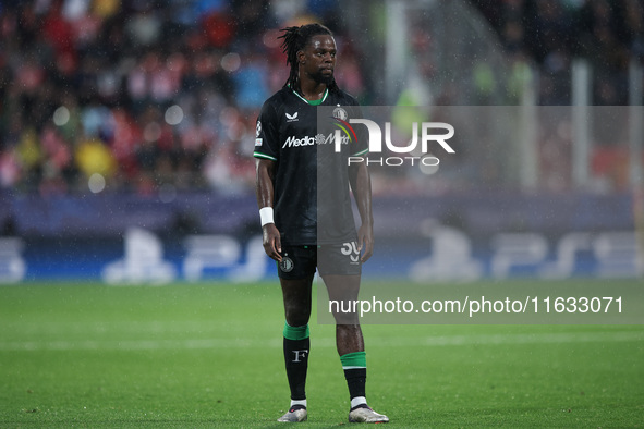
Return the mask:
M374 254L374 216L372 213L372 179L366 162L352 163L349 167L349 182L360 212L362 224L357 230L357 245L362 262Z

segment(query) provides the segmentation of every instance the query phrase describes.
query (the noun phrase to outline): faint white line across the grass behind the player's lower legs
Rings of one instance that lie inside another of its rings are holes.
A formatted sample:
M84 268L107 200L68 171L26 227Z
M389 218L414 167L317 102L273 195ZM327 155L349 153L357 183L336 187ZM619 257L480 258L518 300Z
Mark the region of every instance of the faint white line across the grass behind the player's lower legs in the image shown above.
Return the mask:
M472 334L440 335L418 338L377 338L370 336L369 347L413 347L413 346L463 346L463 345L520 345L520 344L562 344L562 343L612 343L644 342L644 332L561 332L561 333L515 333L515 334ZM331 339L315 340L312 345L332 347ZM155 351L155 350L217 350L281 347L282 340L277 336L265 340L247 339L187 339L187 340L86 340L86 341L7 341L0 342L0 352L21 351Z

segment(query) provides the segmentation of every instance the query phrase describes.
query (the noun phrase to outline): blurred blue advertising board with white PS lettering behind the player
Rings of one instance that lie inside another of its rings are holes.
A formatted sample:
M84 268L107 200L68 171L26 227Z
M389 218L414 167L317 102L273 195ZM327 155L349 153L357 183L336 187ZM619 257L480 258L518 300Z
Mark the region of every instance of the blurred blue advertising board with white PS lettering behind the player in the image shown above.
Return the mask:
M0 209L0 282L275 279L255 198L189 194L13 197ZM418 282L635 278L642 244L628 195L461 195L374 199L365 277Z

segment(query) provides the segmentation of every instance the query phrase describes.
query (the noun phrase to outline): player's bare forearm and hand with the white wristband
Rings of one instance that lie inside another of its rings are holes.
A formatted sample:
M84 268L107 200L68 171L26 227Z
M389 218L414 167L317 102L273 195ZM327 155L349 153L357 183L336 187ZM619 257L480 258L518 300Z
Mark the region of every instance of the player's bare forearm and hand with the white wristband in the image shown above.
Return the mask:
M257 159L255 162L256 182L255 194L257 196L257 206L272 207L275 197L275 161L269 159ZM264 252L266 255L277 260L282 260L280 253L282 252L280 232L275 223L267 223L262 228L262 235L264 237Z

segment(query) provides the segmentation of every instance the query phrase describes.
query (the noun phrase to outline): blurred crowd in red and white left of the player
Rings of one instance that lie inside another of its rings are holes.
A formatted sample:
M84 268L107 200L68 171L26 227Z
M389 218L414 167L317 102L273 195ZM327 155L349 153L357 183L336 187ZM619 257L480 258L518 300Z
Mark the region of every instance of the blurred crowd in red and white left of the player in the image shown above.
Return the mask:
M277 29L332 23L335 11L335 1L2 2L0 187L250 188L258 109L288 77ZM360 91L352 64L339 73Z

